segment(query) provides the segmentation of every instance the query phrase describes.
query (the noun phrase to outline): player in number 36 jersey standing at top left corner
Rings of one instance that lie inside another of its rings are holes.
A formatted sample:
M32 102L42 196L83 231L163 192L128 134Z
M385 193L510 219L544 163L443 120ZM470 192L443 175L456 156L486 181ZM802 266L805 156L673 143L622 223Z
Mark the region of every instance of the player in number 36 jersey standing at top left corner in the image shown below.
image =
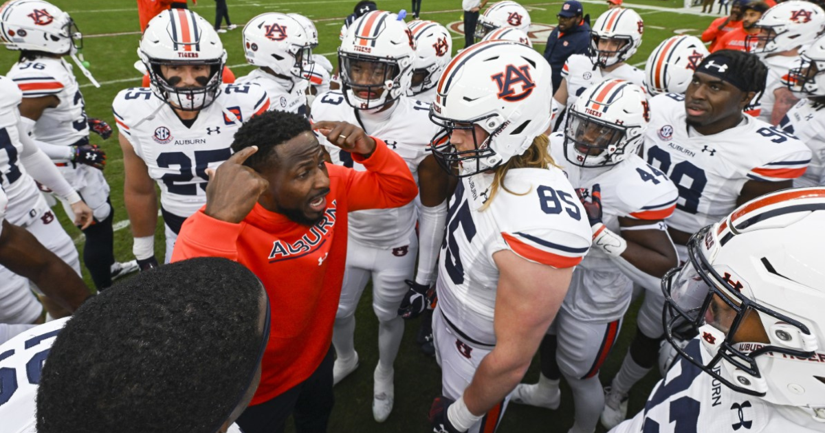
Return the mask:
M31 134L92 208L94 224L83 229L83 262L97 289L106 289L113 276L134 271L137 266L134 262L115 263L114 209L102 172L106 153L89 141L90 130L108 139L111 128L101 120L87 118L73 68L64 59L70 56L97 85L78 60L82 35L68 13L42 0L5 3L0 9L0 27L7 47L21 51L20 60L7 75L23 92L21 133ZM63 204L69 218L74 219L71 206Z

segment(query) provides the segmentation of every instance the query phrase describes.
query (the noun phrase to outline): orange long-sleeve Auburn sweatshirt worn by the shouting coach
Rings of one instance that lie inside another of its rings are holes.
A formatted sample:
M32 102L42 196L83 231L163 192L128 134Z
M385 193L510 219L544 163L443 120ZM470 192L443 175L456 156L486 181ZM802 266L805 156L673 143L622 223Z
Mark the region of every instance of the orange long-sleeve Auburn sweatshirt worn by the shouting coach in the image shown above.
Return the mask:
M370 158L352 155L366 172L327 165L327 210L313 227L259 204L240 224L210 218L201 208L181 227L172 261L226 257L247 266L266 287L271 332L252 405L308 379L329 350L347 260L347 213L406 205L418 193L403 159L375 141Z

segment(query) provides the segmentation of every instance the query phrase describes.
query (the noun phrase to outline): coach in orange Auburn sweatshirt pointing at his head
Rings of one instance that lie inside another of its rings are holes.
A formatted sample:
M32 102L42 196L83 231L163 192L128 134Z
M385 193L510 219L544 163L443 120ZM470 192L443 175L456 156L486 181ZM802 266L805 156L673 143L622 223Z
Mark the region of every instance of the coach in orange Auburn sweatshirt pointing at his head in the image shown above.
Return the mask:
M324 162L313 128L366 171ZM229 160L207 171L206 205L186 219L172 261L226 257L266 287L270 339L261 384L238 418L243 431L283 431L290 414L296 431L326 431L347 213L406 205L416 182L384 142L345 122L310 126L302 115L269 111L238 129L232 148Z

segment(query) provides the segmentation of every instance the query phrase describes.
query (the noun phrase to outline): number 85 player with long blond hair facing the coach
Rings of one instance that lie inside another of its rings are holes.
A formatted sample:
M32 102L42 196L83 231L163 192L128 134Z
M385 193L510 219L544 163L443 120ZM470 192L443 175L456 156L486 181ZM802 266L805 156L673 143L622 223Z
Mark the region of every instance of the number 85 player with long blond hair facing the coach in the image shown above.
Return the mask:
M438 83L432 152L461 179L438 261L433 431L495 430L590 247L543 134L552 88L541 54L512 41L470 46Z

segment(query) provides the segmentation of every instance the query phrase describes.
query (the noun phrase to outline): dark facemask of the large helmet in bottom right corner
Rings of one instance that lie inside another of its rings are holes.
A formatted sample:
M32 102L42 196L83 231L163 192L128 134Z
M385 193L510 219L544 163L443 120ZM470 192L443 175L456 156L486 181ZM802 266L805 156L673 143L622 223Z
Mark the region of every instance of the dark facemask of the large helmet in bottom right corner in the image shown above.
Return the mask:
M703 228L688 242L690 260L662 278L665 337L686 360L728 388L764 397L768 385L757 365L759 357L790 355L807 359L814 352L804 349L815 337L803 323L742 294L744 287L733 271L720 274L703 252L709 250L708 254L715 255L714 245L718 242L711 226ZM707 248L702 247L703 243ZM762 264L772 269L766 259ZM695 359L676 344L676 327L685 323L699 332L702 345L712 357L709 362ZM775 323L769 330L775 336L773 341L766 323Z

